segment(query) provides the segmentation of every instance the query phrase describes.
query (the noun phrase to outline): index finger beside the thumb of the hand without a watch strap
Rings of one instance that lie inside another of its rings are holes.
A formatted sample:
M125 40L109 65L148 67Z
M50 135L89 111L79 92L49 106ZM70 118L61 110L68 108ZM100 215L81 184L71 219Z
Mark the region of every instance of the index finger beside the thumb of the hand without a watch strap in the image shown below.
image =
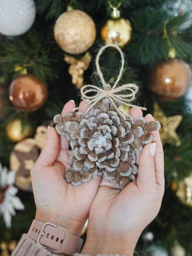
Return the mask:
M147 122L155 121L154 117L151 116L151 114L148 114L145 117ZM155 174L156 174L156 184L158 186L158 189L164 193L164 152L163 152L163 146L161 143L161 138L159 131L151 132L153 135L153 141L156 142L156 154L155 154Z

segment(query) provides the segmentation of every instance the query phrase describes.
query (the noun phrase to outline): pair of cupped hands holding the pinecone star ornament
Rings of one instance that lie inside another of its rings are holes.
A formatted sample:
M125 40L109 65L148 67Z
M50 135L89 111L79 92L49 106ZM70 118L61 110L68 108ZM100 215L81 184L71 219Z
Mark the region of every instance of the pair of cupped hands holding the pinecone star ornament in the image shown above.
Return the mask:
M82 101L80 106L85 104ZM73 113L73 108L75 103L70 100L61 115ZM142 111L131 108L130 114L136 118L142 116ZM151 115L145 118L147 122L154 121ZM108 186L97 175L75 187L63 178L72 154L69 141L49 127L44 149L31 170L36 219L55 223L80 236L89 217L82 253L133 255L142 230L159 212L164 194L163 147L159 132L152 134L153 143L140 153L137 181L121 190Z

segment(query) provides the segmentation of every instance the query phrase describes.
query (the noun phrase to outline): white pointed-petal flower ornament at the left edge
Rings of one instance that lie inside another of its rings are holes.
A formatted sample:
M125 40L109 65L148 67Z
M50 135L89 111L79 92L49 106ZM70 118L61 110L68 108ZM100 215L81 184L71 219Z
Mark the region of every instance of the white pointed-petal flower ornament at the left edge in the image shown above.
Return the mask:
M16 196L18 189L13 186L15 182L15 172L7 171L0 163L0 215L7 228L11 228L12 216L16 214L15 210L24 210L20 198Z

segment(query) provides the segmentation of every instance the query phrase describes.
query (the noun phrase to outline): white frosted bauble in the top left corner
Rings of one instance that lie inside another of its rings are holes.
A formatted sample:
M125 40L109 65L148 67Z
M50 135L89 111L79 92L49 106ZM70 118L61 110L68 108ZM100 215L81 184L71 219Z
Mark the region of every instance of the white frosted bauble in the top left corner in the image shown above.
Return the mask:
M36 17L34 0L0 0L0 33L20 36L27 32Z

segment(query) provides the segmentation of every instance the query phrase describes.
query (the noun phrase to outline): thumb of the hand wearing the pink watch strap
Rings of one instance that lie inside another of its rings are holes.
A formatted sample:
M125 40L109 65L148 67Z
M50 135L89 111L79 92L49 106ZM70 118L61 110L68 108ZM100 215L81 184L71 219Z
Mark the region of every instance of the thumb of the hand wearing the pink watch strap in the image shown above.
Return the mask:
M47 140L36 164L41 166L52 165L59 154L59 148L59 136L54 127L48 126Z

